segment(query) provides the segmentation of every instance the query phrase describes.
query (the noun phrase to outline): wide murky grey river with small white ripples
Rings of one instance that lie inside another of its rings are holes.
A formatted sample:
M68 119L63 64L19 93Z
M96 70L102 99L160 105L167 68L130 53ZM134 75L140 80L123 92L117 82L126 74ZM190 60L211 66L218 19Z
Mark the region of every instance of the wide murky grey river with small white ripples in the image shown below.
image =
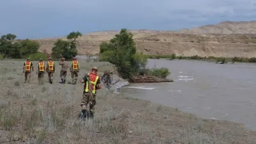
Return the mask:
M256 65L148 60L147 67L169 68L169 78L175 82L129 84L120 92L256 130Z

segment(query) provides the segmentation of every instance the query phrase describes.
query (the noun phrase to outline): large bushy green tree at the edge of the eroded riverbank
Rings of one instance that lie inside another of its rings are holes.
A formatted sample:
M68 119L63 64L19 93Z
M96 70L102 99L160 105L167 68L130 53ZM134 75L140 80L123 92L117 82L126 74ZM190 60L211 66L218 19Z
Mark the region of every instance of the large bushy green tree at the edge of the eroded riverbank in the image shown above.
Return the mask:
M109 43L100 44L101 59L116 65L118 72L125 79L131 78L138 73L139 69L132 36L127 29L121 29L120 33L116 34Z

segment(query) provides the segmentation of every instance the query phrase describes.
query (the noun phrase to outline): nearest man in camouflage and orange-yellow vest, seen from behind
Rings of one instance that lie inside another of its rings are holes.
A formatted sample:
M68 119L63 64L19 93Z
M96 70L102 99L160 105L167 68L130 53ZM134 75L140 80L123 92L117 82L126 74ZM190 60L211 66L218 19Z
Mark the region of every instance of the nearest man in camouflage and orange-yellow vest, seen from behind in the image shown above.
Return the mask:
M96 104L96 90L101 88L100 77L97 76L97 71L97 67L93 67L92 71L81 79L81 83L84 83L83 99L81 101L82 112L85 113L88 110L87 106L90 102L89 111L92 118Z

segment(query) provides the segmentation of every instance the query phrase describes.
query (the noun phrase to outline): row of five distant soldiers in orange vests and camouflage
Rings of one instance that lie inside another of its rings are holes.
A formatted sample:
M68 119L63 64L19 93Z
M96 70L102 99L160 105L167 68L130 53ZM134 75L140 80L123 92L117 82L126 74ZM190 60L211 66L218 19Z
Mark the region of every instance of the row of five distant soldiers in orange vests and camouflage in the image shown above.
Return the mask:
M66 83L66 77L67 77L67 68L68 68L68 63L65 60L65 58L60 58L59 64L61 65L61 70L60 70L60 77L61 77L61 83ZM25 73L25 82L30 81L31 78L31 70L34 71L33 63L30 61L28 58L27 61L24 63L23 67L23 73ZM39 59L39 63L36 68L36 74L38 74L38 81L42 81L44 79L44 74L47 72L48 78L49 78L49 83L52 84L52 79L53 79L53 74L55 72L55 63L52 61L52 58L48 58L48 62L45 67L45 63L42 60L42 58ZM76 84L77 82L77 77L79 73L79 64L76 59L76 57L73 58L72 64L70 67L70 72L71 72L71 77L72 77L72 84Z

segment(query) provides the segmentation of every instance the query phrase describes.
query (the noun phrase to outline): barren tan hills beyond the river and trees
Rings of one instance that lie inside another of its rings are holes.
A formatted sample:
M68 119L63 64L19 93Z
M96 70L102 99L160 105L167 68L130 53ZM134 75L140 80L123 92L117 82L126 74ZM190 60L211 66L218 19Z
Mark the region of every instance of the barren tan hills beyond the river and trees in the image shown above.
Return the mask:
M108 42L118 31L99 31L79 39L79 54L99 52L101 42ZM145 54L184 56L256 57L256 21L221 22L180 31L131 30L138 51ZM65 39L65 38L64 38ZM57 38L36 40L41 51L51 53Z

